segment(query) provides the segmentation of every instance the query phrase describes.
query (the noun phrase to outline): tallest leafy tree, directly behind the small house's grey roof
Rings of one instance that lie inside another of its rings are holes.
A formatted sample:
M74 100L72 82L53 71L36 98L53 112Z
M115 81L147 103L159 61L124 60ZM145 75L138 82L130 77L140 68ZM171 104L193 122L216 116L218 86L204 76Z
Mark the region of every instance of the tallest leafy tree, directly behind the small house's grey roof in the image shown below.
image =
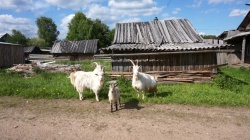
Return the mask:
M93 22L82 12L77 12L69 23L67 40L88 40L92 39Z

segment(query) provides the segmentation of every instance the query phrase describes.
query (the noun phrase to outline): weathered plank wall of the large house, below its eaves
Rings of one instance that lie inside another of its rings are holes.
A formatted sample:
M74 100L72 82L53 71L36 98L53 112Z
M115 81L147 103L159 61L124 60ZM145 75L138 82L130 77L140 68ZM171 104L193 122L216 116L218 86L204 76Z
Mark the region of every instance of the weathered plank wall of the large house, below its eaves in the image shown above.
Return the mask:
M128 59L136 61L140 71L192 71L202 70L217 65L216 53L183 53L144 56L113 56L112 71L131 72L132 64ZM216 68L211 69L217 72Z

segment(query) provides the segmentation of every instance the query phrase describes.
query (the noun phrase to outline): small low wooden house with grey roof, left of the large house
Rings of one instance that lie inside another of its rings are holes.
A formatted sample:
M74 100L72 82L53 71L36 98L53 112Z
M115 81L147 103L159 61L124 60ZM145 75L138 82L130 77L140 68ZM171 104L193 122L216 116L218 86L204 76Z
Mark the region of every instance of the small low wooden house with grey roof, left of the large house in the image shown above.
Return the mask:
M55 41L51 53L55 58L69 60L92 59L97 51L98 39L81 41Z

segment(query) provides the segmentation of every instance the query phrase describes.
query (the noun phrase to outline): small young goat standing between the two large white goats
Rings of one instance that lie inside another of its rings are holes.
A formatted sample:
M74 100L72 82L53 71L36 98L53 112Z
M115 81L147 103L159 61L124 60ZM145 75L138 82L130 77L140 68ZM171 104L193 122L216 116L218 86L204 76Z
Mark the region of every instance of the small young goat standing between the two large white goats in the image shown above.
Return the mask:
M120 90L117 87L116 84L111 83L109 85L109 93L108 93L108 97L109 97L109 102L110 102L110 107L111 107L111 112L113 111L113 104L115 105L115 109L116 111L118 110L118 103L119 106L121 107L121 100L120 100Z

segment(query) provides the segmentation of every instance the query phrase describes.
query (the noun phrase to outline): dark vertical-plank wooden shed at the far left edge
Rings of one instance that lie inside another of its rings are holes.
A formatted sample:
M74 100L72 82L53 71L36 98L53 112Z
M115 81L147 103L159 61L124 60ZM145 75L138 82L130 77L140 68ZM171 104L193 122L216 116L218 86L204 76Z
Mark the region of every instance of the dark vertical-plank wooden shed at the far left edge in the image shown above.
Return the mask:
M11 67L24 63L23 46L0 42L0 67Z

